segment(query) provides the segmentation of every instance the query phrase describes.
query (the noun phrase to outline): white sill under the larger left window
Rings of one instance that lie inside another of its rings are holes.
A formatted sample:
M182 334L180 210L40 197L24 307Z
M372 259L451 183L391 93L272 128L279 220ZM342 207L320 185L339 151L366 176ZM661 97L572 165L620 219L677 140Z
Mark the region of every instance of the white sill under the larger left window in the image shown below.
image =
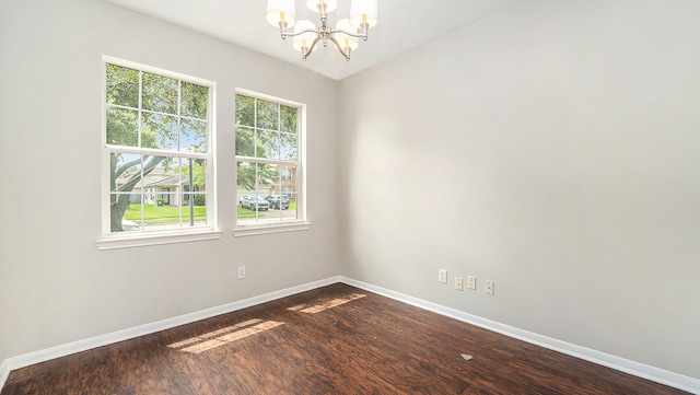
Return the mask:
M129 235L104 236L95 243L97 249L116 249L143 247L149 245L200 242L206 240L219 240L222 232L213 230L199 230L191 232L170 232L170 233L139 233Z

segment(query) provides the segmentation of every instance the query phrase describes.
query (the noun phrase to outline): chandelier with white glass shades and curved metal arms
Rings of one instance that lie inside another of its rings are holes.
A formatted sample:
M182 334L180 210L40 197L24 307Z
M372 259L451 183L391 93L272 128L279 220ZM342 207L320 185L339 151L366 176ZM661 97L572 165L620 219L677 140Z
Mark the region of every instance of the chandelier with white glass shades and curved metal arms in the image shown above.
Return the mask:
M267 21L280 30L282 39L293 37L292 46L306 60L308 55L318 48L318 42L324 47L331 42L336 49L350 61L350 53L359 46L358 38L368 39L368 31L376 25L376 0L352 0L350 18L341 19L336 28L328 25L328 12L338 5L337 0L307 0L306 7L318 12L320 26L308 20L296 21L294 0L268 0ZM290 28L294 27L292 33Z

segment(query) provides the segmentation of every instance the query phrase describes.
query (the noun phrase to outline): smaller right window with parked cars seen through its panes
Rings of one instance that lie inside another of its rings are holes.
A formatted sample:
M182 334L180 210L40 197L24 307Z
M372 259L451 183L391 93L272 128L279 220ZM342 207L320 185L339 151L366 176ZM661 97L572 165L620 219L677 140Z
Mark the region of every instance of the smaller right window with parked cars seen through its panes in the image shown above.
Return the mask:
M305 223L303 105L236 93L237 230Z

